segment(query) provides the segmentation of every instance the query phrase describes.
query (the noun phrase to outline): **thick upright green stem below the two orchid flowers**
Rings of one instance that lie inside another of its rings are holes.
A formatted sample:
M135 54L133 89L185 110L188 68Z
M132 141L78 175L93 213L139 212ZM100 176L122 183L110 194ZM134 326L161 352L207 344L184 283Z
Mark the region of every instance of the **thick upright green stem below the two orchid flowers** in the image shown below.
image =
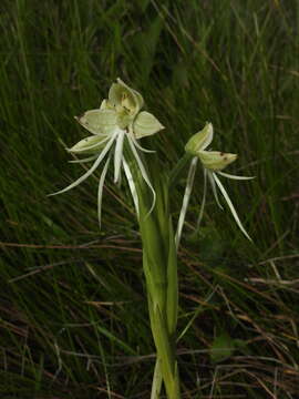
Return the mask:
M130 168L136 186L140 229L143 242L143 268L146 280L148 313L157 351L151 399L158 399L162 380L168 399L179 399L179 378L175 356L177 324L177 258L169 213L168 180L156 156L143 158L156 193L156 204L148 214L152 198L134 160ZM150 162L148 162L150 161Z

